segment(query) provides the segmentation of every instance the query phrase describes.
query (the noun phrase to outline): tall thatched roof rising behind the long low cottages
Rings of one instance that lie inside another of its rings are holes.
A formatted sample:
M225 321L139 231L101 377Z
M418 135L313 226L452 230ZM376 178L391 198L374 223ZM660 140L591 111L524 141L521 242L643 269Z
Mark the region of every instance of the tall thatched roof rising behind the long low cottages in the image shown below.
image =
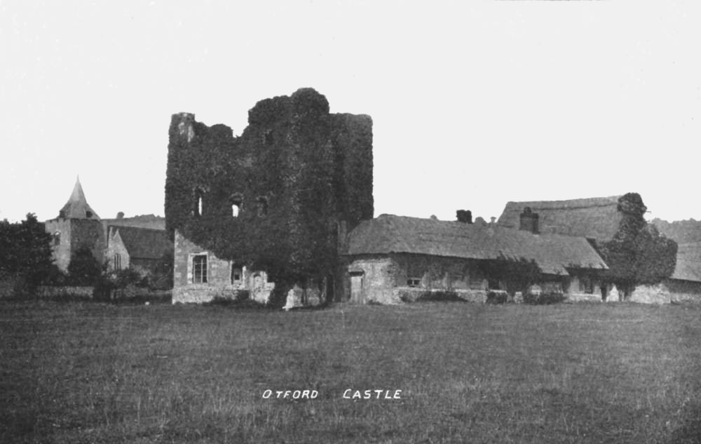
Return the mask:
M542 233L584 236L598 241L609 241L618 231L621 215L618 198L592 197L569 201L508 202L497 224L501 227L519 228L519 217L524 208L538 213L538 226Z

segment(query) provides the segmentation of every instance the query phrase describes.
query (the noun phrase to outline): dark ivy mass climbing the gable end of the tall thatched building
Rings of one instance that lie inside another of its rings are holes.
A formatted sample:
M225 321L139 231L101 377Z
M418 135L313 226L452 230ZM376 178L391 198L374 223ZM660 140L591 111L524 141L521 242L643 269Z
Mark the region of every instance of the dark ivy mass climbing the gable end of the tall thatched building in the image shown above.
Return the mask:
M608 281L614 283L623 297L635 285L659 283L672 276L676 267L676 242L660 235L658 229L644 219L647 207L637 193L618 199L622 219L611 241L601 245L601 255L608 264Z

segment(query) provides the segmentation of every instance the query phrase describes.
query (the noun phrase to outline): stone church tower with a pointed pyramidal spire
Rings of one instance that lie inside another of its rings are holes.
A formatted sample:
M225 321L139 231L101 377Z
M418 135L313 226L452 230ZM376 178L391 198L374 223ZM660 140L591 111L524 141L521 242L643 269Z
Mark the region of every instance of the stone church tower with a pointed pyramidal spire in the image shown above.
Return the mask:
M67 271L71 257L81 248L88 248L102 262L104 235L100 217L90 207L81 181L76 178L71 196L58 212L58 217L45 222L53 236L53 259L61 271Z

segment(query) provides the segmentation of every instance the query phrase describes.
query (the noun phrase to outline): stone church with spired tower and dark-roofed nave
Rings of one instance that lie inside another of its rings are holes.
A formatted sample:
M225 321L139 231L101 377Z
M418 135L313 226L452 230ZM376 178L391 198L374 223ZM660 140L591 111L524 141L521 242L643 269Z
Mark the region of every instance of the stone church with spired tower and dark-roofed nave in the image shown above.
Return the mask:
M53 259L61 271L68 270L78 250L88 248L111 271L131 267L169 274L173 246L163 217L119 213L114 219L101 219L88 204L80 180L58 216L44 222L44 227L53 237Z

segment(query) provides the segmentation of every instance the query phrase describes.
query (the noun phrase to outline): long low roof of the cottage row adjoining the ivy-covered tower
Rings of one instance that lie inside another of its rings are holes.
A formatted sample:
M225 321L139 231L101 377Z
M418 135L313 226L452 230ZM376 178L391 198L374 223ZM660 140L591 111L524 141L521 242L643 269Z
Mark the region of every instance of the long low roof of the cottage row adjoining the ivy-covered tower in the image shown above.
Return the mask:
M365 220L348 236L348 255L414 253L465 259L534 260L547 274L567 268L608 269L583 237L532 234L529 231L380 215Z

